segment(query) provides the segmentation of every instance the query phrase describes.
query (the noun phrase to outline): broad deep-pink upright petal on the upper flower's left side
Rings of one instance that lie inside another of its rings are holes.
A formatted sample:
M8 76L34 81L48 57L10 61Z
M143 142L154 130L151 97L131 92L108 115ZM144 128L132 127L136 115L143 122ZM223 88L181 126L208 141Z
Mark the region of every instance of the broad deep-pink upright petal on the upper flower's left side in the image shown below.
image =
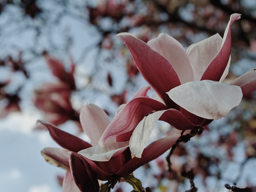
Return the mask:
M167 91L180 85L180 79L170 62L130 33L119 33L117 36L131 52L141 75L164 100L167 107L178 108L166 95Z

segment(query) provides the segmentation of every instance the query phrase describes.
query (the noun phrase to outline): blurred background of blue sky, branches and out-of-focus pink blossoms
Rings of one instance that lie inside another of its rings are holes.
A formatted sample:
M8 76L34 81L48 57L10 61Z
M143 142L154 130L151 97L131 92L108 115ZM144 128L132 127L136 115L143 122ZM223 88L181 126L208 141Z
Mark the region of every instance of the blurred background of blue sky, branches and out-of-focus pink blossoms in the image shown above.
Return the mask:
M119 105L148 85L124 44L130 32L144 42L167 33L185 49L219 33L232 13L230 71L226 82L256 68L255 0L0 0L0 186L3 192L58 192L64 170L47 164L44 147L58 147L37 119L88 140L79 123L86 103L112 119ZM153 91L149 92L151 96ZM159 122L150 142L176 133ZM256 93L229 115L180 143L134 176L156 192L256 191ZM113 191L132 188L118 183Z

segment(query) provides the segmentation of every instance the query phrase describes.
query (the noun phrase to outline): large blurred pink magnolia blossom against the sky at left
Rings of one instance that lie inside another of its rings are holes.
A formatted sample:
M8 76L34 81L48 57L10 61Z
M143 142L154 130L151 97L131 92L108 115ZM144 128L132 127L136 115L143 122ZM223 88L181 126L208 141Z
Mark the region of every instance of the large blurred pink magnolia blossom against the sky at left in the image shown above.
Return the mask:
M44 119L52 124L59 125L67 120L74 120L79 127L79 113L72 107L70 97L76 89L74 80L75 64L71 60L70 71L67 72L63 63L47 53L44 53L52 74L58 78L56 83L45 83L35 91L33 99L37 108L44 111ZM43 128L39 125L37 128Z

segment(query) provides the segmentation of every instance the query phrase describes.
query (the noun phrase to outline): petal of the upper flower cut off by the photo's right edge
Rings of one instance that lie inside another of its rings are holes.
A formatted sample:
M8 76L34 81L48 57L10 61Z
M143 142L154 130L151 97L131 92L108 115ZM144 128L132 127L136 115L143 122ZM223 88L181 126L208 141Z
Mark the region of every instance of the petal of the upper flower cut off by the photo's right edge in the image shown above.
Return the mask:
M247 71L244 75L236 78L236 80L232 81L230 84L240 86L243 95L247 95L256 90L256 68Z

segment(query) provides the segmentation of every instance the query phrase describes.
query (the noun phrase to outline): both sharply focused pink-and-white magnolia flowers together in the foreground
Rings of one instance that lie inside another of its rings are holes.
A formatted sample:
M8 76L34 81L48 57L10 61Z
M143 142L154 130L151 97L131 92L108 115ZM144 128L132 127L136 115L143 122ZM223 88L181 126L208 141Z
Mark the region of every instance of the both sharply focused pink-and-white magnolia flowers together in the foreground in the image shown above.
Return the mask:
M42 150L48 163L67 170L63 191L110 191L121 178L141 191L132 172L162 155L180 138L180 134L171 135L146 147L158 120L182 131L204 127L227 116L243 95L256 90L256 69L230 84L222 83L230 64L231 26L239 18L240 14L230 16L223 39L216 34L187 51L166 34L147 44L132 34L118 34L155 93L149 98L150 87L142 87L118 108L112 122L96 105L85 105L80 122L92 144L39 121L64 148ZM107 182L102 185L99 180Z

